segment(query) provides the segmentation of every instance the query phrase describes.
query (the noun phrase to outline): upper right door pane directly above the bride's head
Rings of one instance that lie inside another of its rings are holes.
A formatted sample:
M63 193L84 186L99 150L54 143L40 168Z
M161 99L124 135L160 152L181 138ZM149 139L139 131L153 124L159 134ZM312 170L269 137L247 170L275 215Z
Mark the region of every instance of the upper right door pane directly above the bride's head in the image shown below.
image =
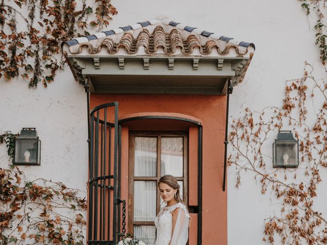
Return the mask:
M183 176L183 137L161 137L161 176Z

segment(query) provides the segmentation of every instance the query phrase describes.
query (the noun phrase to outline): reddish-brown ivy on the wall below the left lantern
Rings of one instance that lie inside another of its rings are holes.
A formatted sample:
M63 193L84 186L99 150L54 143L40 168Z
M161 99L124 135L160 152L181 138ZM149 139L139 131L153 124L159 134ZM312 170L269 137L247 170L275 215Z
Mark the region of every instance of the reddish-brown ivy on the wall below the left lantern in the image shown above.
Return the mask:
M14 138L6 131L8 155L14 157ZM45 179L30 181L17 166L0 168L0 245L83 245L86 200L78 190Z

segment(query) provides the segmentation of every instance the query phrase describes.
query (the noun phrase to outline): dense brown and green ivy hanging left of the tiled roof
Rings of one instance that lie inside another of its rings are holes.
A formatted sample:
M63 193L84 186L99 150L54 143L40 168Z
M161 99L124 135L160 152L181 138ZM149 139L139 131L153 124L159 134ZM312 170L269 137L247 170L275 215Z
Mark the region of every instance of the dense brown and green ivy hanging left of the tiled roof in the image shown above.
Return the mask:
M107 27L118 13L111 0L93 2L0 0L0 78L21 76L30 88L54 81L65 63L60 43ZM17 26L21 20L26 27Z

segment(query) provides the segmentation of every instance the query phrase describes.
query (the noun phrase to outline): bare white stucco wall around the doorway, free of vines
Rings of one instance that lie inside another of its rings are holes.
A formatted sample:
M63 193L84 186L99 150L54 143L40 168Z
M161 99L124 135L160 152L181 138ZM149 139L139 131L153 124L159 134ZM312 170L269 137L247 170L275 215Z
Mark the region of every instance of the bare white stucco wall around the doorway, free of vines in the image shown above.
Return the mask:
M108 29L115 29L153 18L168 17L189 26L253 42L256 51L247 75L230 96L230 117L241 109L261 111L281 106L288 79L300 78L305 61L314 65L317 77L324 72L315 43L313 24L300 2L292 1L152 1L112 0L119 14ZM86 94L66 68L44 89L28 90L22 81L0 82L0 130L18 132L36 127L42 140L41 166L20 167L31 178L62 181L86 190L87 120ZM313 119L315 114L309 113ZM273 139L271 139L271 142ZM271 144L266 150L270 150ZM7 166L6 148L0 146L0 164ZM325 173L320 173L326 176ZM323 182L318 186L317 209L327 213ZM235 188L235 169L228 168L228 244L267 244L262 241L264 219L279 209L268 192L261 194L251 173L243 173Z

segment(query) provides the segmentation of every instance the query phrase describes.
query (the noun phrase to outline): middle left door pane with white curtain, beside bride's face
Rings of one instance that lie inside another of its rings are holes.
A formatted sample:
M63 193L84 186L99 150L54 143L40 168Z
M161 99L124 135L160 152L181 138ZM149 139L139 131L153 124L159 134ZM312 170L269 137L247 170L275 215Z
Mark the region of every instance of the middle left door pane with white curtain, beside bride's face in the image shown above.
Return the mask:
M156 181L134 181L134 221L154 221Z

